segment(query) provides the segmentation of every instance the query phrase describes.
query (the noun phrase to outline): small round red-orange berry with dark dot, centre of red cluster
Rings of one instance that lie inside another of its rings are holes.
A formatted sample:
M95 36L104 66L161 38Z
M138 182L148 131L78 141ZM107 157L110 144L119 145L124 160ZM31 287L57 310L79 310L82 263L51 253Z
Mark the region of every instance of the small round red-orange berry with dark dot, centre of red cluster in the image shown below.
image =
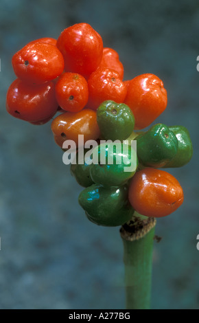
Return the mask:
M86 79L80 74L64 73L56 82L56 98L65 111L82 110L89 99Z

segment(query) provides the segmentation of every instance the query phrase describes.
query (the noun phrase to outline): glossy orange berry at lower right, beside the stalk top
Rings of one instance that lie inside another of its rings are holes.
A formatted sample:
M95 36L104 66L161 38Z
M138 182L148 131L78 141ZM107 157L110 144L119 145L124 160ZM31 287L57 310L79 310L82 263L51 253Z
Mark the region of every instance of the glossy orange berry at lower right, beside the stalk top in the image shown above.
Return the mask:
M154 168L139 170L130 181L128 199L139 214L167 216L183 203L183 188L177 179Z

